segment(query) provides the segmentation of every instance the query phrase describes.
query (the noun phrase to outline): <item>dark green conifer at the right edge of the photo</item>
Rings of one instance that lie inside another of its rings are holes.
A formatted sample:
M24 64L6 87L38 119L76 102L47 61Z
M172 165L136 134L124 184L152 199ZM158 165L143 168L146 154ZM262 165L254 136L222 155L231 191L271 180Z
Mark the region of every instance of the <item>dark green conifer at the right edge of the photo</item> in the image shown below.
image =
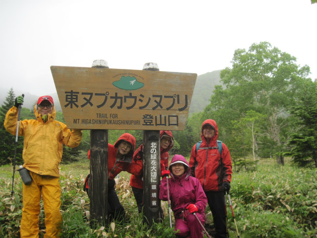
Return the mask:
M312 162L317 168L317 82L303 82L298 103L291 107L290 113L298 118L297 131L290 133L289 152L300 166L309 166Z

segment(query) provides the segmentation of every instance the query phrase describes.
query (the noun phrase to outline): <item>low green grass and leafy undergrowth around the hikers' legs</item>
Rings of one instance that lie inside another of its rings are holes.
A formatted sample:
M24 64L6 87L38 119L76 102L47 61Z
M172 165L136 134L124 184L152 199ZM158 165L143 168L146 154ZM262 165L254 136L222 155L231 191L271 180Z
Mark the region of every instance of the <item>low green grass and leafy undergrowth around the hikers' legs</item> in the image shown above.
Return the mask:
M83 191L89 161L85 153L79 161L60 165L61 238L171 238L167 202L162 202L165 218L162 223L148 227L138 214L130 175L123 172L117 180L116 191L125 208L121 224L92 229L89 223L89 198ZM14 196L11 197L13 166L0 167L0 237L20 236L22 212L22 181L16 173ZM286 160L278 166L274 160L261 160L253 169L234 171L230 196L236 225L241 238L317 238L317 170L293 167ZM42 205L43 206L43 205ZM209 207L206 209L206 229L213 234ZM237 237L229 202L227 223L231 238ZM40 214L40 237L45 234L44 209ZM204 236L207 237L207 236Z

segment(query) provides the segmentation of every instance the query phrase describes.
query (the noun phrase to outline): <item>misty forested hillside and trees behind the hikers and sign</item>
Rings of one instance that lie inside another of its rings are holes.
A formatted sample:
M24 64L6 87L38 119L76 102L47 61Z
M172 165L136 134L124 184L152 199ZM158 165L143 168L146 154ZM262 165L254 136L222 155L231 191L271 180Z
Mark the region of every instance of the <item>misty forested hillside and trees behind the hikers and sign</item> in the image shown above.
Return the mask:
M301 166L317 168L317 82L308 77L309 66L298 65L295 57L268 42L253 44L248 50L237 49L232 62L232 67L198 76L186 127L172 131L175 143L171 154L189 156L193 145L201 140L202 122L214 119L218 139L228 146L234 165L272 157L284 165L284 156L290 156ZM5 113L20 93L12 90L5 95L7 99L1 103L2 125ZM33 117L28 103L31 100L34 105L37 97L31 96L25 93L21 119ZM57 95L52 96L59 111ZM63 121L61 112L56 119ZM0 144L0 151L5 152L0 163L7 164L14 150L14 137L3 126L0 129L6 141ZM111 130L109 142L114 142L112 139L121 132ZM80 150L89 149L89 133L84 131ZM142 131L130 133L139 146Z

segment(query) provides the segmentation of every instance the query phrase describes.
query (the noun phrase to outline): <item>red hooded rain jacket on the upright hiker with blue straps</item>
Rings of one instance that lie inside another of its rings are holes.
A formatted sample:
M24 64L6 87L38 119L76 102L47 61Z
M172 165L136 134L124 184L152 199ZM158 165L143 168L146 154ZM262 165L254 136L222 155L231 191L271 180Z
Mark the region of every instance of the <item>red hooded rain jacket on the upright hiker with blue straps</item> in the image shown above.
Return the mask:
M209 144L203 135L203 127L210 124L215 132ZM217 149L218 126L212 119L207 119L202 125L202 143L196 151L196 144L193 146L189 166L192 176L199 179L205 191L222 191L222 182L231 182L232 164L228 147L222 143L221 156Z

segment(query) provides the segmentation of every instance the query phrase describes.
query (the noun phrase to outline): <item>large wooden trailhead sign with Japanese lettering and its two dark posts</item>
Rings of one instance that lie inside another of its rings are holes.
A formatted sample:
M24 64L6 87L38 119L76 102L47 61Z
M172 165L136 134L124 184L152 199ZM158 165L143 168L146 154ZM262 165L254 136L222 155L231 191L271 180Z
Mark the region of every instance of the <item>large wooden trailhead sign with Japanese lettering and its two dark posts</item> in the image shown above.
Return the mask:
M197 74L67 66L51 66L51 71L67 126L96 129L96 136L91 137L97 161L96 165L91 165L94 176L92 196L97 197L91 210L96 211L96 220L100 221L98 216L106 220L106 204L102 203L107 201L106 193L101 189L106 184L94 181L95 176L97 180L107 178L105 169L97 169L98 166L105 168L107 163L104 161L107 161L106 149L103 149L107 148L107 135L98 130L129 129L148 131L143 139L146 153L144 179L147 181L144 187L147 198L144 200L149 208L146 213L148 222L157 221L158 198L151 198L149 194L158 195L155 194L158 187L152 185L158 185L160 181L159 130L185 128ZM151 173L152 170L156 173ZM148 181L152 181L151 186ZM98 213L98 209L102 212Z

